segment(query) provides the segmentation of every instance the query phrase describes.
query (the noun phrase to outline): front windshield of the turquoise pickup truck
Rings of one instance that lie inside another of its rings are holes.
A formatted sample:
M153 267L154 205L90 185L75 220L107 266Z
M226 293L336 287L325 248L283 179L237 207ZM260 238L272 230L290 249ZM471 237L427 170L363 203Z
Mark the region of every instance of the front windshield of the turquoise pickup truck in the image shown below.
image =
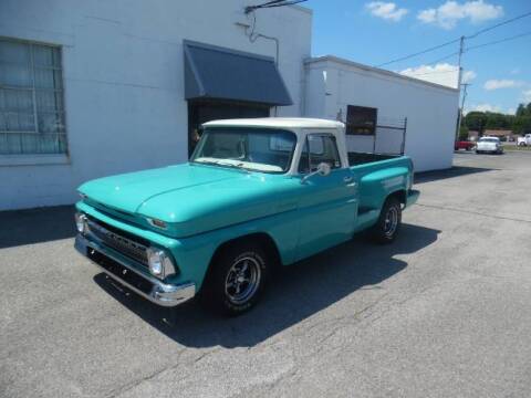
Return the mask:
M207 128L190 161L262 172L290 168L296 136L287 130L252 127Z

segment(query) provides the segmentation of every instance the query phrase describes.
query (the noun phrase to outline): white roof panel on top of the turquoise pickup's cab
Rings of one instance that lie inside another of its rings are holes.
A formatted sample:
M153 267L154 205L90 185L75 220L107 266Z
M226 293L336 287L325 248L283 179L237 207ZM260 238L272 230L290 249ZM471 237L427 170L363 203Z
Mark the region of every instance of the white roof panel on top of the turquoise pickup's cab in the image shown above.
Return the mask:
M266 128L344 128L342 122L310 117L257 117L212 121L204 124L205 127L266 127Z

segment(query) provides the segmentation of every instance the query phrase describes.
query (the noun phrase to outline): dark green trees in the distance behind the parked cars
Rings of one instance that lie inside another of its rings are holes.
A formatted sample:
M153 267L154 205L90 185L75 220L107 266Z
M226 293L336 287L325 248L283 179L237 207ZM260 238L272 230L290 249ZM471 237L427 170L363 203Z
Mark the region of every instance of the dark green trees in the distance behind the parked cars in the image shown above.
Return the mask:
M531 103L520 104L516 115L496 112L469 112L462 125L483 135L486 129L511 129L514 134L531 133Z

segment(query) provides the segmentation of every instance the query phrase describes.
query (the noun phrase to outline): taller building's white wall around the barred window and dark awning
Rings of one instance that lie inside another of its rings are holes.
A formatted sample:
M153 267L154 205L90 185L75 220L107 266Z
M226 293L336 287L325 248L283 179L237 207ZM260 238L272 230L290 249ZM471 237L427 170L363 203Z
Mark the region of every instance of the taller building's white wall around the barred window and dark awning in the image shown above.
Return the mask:
M70 156L0 156L0 210L72 203L83 181L187 159L183 40L274 56L237 27L244 0L1 0L0 35L63 49ZM301 113L311 12L257 12L258 33L280 40L280 71ZM21 164L30 165L21 165ZM45 163L46 165L44 165ZM39 165L37 165L39 164Z

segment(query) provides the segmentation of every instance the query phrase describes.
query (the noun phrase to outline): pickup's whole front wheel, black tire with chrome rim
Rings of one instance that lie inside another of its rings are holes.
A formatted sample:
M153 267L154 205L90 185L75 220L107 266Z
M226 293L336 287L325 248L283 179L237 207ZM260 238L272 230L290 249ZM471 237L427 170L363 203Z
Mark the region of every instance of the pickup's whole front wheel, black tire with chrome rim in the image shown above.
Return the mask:
M270 264L263 249L253 243L235 243L222 249L210 264L200 300L211 311L237 316L260 300L269 280Z

